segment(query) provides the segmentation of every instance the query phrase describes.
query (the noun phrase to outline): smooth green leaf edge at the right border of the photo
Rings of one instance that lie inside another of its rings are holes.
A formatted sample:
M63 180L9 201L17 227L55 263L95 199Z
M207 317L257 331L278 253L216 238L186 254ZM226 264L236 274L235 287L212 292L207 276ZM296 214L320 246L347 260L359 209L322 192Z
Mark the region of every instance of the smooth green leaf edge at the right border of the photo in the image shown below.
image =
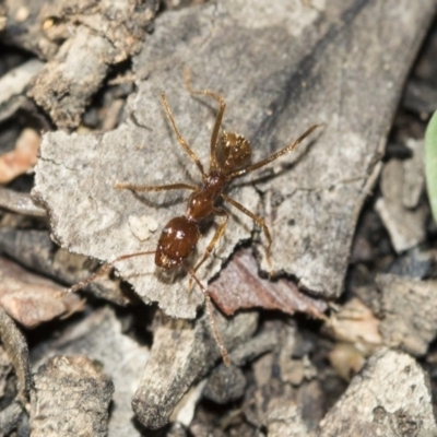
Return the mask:
M437 223L437 110L425 132L425 177L433 217Z

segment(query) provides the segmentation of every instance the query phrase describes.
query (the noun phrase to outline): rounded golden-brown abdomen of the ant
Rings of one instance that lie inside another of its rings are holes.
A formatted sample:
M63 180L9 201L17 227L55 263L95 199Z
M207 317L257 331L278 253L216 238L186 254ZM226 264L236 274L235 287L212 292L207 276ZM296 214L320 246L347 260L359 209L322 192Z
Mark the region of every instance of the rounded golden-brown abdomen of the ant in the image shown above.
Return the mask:
M252 150L249 141L238 133L223 132L215 154L220 168L229 173L250 164Z

